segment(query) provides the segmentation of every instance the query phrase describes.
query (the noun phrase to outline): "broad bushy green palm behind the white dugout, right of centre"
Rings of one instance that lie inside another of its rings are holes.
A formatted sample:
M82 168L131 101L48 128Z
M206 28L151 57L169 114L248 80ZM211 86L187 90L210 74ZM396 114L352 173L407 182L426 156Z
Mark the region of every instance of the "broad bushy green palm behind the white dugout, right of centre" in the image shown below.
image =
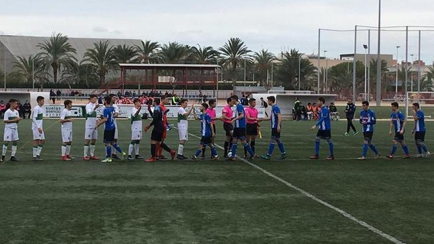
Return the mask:
M315 66L309 60L303 59L302 55L295 49L283 53L282 63L276 72L276 78L286 89L294 89L297 85L299 80L298 62L300 62L300 74L303 81L308 81L316 74Z

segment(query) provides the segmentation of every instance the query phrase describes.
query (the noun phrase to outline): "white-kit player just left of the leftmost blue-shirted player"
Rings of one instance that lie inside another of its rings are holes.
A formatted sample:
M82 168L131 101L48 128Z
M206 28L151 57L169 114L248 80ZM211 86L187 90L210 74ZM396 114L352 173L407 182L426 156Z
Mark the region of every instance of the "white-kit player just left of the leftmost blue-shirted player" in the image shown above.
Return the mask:
M95 156L95 143L98 139L98 130L95 130L98 116L97 109L100 105L97 103L98 97L95 94L90 95L89 103L86 105L86 124L84 131L84 156L83 160L99 160ZM89 145L90 143L90 145ZM90 150L89 150L90 149ZM89 154L88 154L89 153Z

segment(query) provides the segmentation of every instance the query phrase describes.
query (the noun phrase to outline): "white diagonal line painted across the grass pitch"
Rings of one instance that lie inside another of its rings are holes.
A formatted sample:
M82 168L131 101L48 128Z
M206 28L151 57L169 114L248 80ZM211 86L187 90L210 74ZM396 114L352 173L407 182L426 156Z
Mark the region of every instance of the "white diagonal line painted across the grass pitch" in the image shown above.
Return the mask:
M175 127L175 128L178 129L177 127ZM188 133L188 134L189 134L190 136L194 137L194 138L201 139L200 137L198 137L198 136L196 136L196 135L194 135L194 134L191 134L191 133ZM217 146L217 147L220 148L220 149L224 149L224 148L223 148L222 146L220 146L220 145L215 145L215 146ZM346 212L346 211L344 211L344 210L342 210L342 209L339 209L339 208L337 208L337 207L334 207L333 205L331 205L331 204L329 204L329 203L327 203L327 202L325 202L325 201L323 201L323 200L317 198L317 197L314 196L313 194L311 194L311 193L309 193L309 192L307 192L307 191L305 191L305 190L303 190L303 189L301 189L301 188L299 188L299 187L297 187L297 186L295 186L295 185L289 183L288 181L282 179L282 178L279 177L279 176L276 176L276 175L274 175L274 174L271 174L270 172L268 172L268 171L262 169L261 167L259 167L259 166L255 165L255 164L253 164L253 163L247 161L246 159L244 159L244 158L240 158L240 157L238 157L238 156L237 156L237 158L240 159L241 161L243 161L244 163L246 163L246 164L252 166L253 168L255 168L255 169L261 171L262 173L264 173L264 174L266 174L266 175L268 175L268 176L270 176L270 177L272 177L272 178L274 178L274 179L276 179L276 180L278 180L278 181L284 183L285 185L287 185L287 186L289 186L290 188L292 188L292 189L298 191L299 193L305 195L306 197L308 197L308 198L310 198L310 199L312 199L312 200L314 200L314 201L316 201L316 202L318 202L318 203L324 205L324 206L327 207L327 208L330 208L330 209L335 210L336 212L342 214L344 217L346 217L346 218L348 218L348 219L350 219L350 220L352 220L352 221L358 223L359 225L362 225L363 227L367 228L368 230L370 230L370 231L372 231L372 232L374 232L374 233L377 233L378 235L380 235L380 236L386 238L387 240L391 241L392 243L395 243L395 244L405 244L405 243L399 241L398 239L396 239L395 237L393 237L393 236L391 236L391 235L389 235L389 234L386 234L386 233L382 232L381 230L379 230L379 229L373 227L372 225L369 225L368 223L366 223L366 222L364 222L364 221L362 221L362 220L360 220L360 219L354 217L353 215L349 214L348 212ZM297 159L297 160L299 160L299 159Z

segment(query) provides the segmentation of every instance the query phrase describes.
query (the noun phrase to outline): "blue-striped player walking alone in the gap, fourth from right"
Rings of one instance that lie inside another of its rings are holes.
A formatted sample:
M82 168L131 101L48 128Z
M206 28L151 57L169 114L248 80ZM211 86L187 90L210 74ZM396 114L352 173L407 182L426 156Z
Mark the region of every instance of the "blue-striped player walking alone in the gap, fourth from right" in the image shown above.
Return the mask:
M319 120L316 125L311 127L311 130L315 130L317 127L319 128L317 137L315 138L315 155L310 156L310 159L319 159L320 158L320 140L325 139L328 142L328 146L330 149L330 156L328 156L327 160L334 159L333 153L333 141L331 140L331 118L330 118L330 110L327 106L325 106L325 99L318 98L317 106L319 110Z

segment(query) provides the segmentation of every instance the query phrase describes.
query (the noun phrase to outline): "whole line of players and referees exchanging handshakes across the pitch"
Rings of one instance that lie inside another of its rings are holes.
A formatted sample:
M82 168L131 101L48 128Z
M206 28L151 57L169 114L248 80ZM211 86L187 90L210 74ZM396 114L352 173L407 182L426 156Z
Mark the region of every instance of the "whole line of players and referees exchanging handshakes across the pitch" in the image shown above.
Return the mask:
M84 157L83 160L99 160L95 155L95 144L98 138L98 127L102 124L105 125L104 129L104 142L106 146L106 159L102 162L111 162L112 158L119 159L116 155L116 151L119 152L122 157L127 155L119 145L117 145L117 124L116 117L119 113L119 109L115 103L116 97L114 95L109 95L105 98L105 107L101 117L98 116L99 104L97 103L97 96L91 95L89 98L89 104L86 105L86 122L85 122L85 144L84 144ZM42 161L40 153L42 151L43 145L45 143L45 135L43 131L43 110L44 98L37 97L37 105L34 108L32 116L32 131L33 131L33 160ZM166 139L166 133L168 128L167 123L167 109L164 104L167 103L167 98L163 96L160 99L155 99L153 106L154 109L150 108L148 105L149 114L152 116L152 122L145 127L145 132L153 126L151 133L151 157L146 160L146 162L154 162L159 159L166 159L162 155L162 150L166 150L170 153L172 160L177 154L175 150L169 148L167 144L164 143ZM19 117L16 107L18 105L17 100L11 99L9 101L10 108L5 112L4 116L4 136L3 136L3 150L1 161L5 160L5 155L9 143L12 143L11 148L11 161L18 161L15 157L17 152L17 142L18 137L18 123L21 120ZM280 139L281 132L281 122L282 116L280 114L279 107L275 104L275 98L273 96L267 98L268 105L271 106L271 114L267 118L258 118L258 111L255 108L255 100L251 99L249 101L249 107L244 109L243 105L238 102L237 96L232 96L227 99L227 105L222 110L222 116L216 117L215 111L215 101L210 101L209 104L201 105L201 114L198 116L193 105L190 109L186 111L188 106L188 101L185 99L181 100L181 107L178 110L178 131L180 143L178 146L177 158L180 160L186 159L183 156L183 147L188 140L188 116L193 112L194 118L200 120L201 122L201 140L196 150L195 154L191 157L192 159L197 159L202 153L201 158L205 158L205 149L207 146L211 148L212 159L218 159L217 149L214 145L214 139L216 135L216 121L223 121L223 130L225 131L226 139L224 142L224 157L227 160L235 160L237 143L241 141L244 147L245 158L253 160L257 157L255 154L255 138L260 135L259 123L262 121L271 121L271 141L269 144L268 152L266 155L261 156L262 159L269 160L275 144L281 151L281 157L279 159L285 159L287 153L284 149L283 142ZM333 142L331 140L331 118L330 111L327 106L325 106L324 98L319 98L317 101L320 119L318 122L312 126L312 130L318 127L318 134L315 139L315 155L311 156L311 159L319 159L319 148L320 140L325 139L329 144L330 155L326 158L327 160L334 159L333 153ZM60 123L61 123L61 135L62 135L62 157L63 161L70 161L71 157L71 143L72 143L72 101L66 100L65 109L61 113ZM391 153L387 155L388 158L393 159L395 152L398 148L398 143L401 144L404 151L404 158L409 158L410 154L408 151L408 146L404 140L404 128L406 126L406 121L404 115L398 109L398 103L392 103L392 114L389 134L392 136L393 130L395 132L395 137L393 139L393 147ZM236 106L235 113L232 111L232 106ZM360 160L366 159L366 154L368 148L370 148L376 157L380 156L380 153L376 149L375 145L372 144L372 136L374 131L374 125L376 123L375 112L369 109L369 103L367 101L362 102L363 110L360 114L360 123L363 125L363 150L362 157ZM134 107L131 111L131 143L128 148L128 159L143 159L139 154L139 144L142 139L142 106L138 99L134 100ZM415 121L412 133L415 133L415 142L418 149L418 154L416 157L427 157L430 152L425 145L425 121L424 113L420 109L420 105L413 104L413 119ZM134 157L132 156L133 151L135 151Z

